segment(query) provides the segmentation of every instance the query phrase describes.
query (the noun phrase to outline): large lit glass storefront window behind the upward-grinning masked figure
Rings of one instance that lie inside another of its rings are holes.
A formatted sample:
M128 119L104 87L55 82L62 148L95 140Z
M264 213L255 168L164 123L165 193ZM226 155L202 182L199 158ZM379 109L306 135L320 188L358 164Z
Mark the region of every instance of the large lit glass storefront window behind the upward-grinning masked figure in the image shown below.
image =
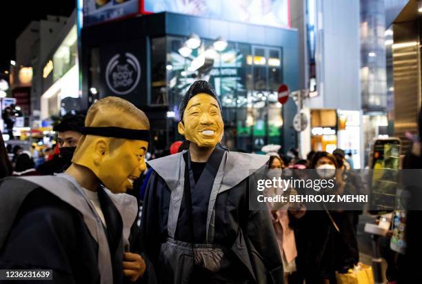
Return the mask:
M281 105L277 103L277 88L283 74L281 48L228 43L219 52L214 50L213 41L203 39L199 48L181 52L183 38L166 37L165 43L163 39L155 40L152 40L152 89L163 77L157 68L165 68L168 105L175 116L173 127L179 118L177 107L181 98L195 80L203 79L214 86L223 106L225 145L251 152L261 150L267 143L281 143L283 120ZM159 63L164 57L156 45L167 48L165 65Z

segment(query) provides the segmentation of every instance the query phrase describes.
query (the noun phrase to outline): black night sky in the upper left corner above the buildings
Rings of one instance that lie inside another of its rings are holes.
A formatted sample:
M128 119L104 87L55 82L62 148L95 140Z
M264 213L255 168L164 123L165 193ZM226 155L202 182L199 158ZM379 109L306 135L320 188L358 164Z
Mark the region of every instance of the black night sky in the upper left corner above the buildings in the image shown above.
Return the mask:
M48 14L69 17L76 0L14 0L1 1L1 48L0 48L0 74L9 69L10 60L15 59L15 41L30 21L46 19Z

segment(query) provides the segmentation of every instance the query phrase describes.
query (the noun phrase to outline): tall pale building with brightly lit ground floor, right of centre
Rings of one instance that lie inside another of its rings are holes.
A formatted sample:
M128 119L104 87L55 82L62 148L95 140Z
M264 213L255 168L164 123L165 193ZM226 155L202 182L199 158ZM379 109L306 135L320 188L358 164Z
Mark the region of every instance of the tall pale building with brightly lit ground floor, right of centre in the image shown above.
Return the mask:
M299 30L299 89L308 119L301 155L342 148L362 164L359 1L292 1Z

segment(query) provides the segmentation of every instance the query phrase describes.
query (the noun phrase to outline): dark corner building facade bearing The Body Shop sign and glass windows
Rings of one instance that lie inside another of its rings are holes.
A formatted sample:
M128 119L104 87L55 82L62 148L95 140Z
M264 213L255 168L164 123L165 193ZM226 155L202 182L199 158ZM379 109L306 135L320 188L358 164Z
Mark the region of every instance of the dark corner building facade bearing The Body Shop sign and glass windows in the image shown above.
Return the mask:
M181 98L205 79L223 105L228 148L259 152L275 143L287 151L297 143L296 105L281 105L277 90L282 83L298 89L297 40L291 28L172 12L84 27L82 104L110 95L128 99L150 119L152 150L165 149L182 138Z

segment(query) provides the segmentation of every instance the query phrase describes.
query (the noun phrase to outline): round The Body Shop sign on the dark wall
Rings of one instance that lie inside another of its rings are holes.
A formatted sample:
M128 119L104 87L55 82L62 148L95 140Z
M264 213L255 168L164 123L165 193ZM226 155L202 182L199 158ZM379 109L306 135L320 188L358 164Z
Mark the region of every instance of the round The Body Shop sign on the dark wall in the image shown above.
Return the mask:
M129 94L139 84L141 65L134 54L115 54L107 64L106 83L114 94Z

